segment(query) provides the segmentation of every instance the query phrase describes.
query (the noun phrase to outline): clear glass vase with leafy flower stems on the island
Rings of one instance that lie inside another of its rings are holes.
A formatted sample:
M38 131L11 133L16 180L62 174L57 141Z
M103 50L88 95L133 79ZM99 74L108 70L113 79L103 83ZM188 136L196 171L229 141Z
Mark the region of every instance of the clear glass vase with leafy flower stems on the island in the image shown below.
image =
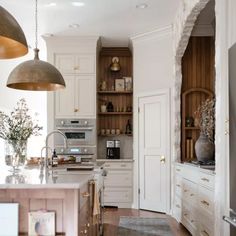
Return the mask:
M0 111L0 138L5 140L6 164L12 166L13 171L25 164L27 141L32 135L40 135L41 129L29 115L24 98L17 102L10 115Z

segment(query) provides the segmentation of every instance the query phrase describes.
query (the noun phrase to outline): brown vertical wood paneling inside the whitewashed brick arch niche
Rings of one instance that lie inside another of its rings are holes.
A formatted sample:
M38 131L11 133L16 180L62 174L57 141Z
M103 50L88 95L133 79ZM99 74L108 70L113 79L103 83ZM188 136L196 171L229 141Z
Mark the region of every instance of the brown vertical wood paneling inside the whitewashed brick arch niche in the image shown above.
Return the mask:
M186 117L193 117L199 105L209 97L204 90L214 95L215 91L215 39L214 37L191 37L182 58L182 161L189 161L186 155L186 139L199 137L199 129L186 128ZM194 158L195 153L194 153Z

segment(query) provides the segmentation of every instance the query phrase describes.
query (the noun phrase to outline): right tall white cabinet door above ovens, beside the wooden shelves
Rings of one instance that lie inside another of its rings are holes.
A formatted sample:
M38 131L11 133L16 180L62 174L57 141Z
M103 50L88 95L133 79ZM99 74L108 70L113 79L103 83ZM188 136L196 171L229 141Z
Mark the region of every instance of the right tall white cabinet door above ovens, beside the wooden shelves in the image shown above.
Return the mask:
M76 77L76 108L77 117L96 117L95 76L80 75Z

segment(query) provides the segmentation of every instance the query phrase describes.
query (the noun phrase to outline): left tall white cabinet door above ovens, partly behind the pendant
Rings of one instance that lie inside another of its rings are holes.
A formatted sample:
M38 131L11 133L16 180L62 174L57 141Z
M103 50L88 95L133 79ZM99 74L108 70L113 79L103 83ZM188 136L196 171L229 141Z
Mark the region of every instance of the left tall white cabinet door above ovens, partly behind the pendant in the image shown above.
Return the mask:
M75 107L75 76L64 76L66 88L55 92L56 118L73 118Z

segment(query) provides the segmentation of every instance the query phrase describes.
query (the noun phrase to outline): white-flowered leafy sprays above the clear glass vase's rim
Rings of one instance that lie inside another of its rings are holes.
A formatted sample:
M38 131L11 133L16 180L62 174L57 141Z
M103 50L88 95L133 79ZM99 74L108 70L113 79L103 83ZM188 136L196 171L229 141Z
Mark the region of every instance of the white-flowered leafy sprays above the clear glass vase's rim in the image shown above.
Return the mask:
M0 138L5 140L27 140L31 135L40 135L42 127L35 124L29 115L29 109L24 98L17 102L17 106L10 115L0 111Z

